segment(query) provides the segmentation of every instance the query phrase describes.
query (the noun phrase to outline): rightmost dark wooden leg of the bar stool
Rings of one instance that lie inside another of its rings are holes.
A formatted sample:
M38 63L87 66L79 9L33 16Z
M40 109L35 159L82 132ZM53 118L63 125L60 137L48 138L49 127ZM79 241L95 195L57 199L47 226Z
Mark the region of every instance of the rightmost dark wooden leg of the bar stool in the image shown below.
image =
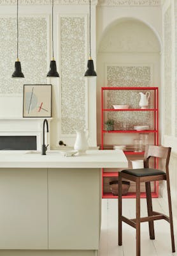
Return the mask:
M169 223L170 223L170 229L171 229L171 246L172 246L172 252L175 252L173 214L172 214L172 207L171 207L171 191L170 191L170 184L169 184L169 175L167 175L167 195L168 195L168 205L169 205Z

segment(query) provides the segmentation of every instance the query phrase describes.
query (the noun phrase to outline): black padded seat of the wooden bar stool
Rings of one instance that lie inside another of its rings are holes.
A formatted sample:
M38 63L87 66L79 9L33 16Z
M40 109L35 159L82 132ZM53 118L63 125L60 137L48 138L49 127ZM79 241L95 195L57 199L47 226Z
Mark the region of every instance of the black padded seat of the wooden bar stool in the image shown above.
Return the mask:
M134 175L136 177L144 177L144 176L152 176L152 175L159 175L159 174L166 174L162 170L151 169L151 168L142 168L142 169L129 169L123 170L123 173L127 173L130 175Z

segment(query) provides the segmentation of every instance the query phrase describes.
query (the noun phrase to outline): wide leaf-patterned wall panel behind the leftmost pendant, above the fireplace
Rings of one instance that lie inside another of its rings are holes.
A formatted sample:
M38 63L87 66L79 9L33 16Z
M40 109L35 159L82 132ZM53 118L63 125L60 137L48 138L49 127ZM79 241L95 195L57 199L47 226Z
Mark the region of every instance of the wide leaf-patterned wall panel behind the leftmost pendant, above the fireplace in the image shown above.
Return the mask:
M19 19L19 59L24 79L12 79L17 60L17 22L0 18L0 93L22 93L23 84L46 83L47 22L45 17ZM38 58L36 58L38 56Z

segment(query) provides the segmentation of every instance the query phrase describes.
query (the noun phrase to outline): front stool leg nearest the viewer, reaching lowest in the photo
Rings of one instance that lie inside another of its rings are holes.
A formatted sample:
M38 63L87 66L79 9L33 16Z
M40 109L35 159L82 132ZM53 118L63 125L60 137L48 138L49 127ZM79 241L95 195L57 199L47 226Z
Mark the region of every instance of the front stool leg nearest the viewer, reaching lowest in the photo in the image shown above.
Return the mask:
M136 256L141 255L140 246L140 181L136 181Z

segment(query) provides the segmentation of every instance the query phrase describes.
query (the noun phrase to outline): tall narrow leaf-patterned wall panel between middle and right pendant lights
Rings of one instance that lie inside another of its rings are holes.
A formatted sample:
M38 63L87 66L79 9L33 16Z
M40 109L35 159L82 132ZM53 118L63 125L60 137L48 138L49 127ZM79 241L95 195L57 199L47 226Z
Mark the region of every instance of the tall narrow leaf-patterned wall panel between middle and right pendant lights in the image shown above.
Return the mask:
M85 128L85 18L61 17L62 134Z

